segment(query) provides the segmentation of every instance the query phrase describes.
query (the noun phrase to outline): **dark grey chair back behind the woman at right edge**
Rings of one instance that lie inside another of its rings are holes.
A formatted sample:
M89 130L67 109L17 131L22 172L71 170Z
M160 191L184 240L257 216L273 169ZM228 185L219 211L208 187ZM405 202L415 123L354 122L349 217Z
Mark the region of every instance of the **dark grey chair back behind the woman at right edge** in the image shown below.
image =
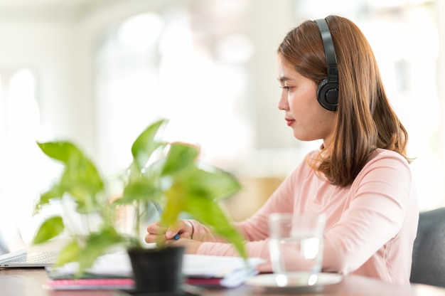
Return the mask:
M445 208L420 213L409 280L445 287Z

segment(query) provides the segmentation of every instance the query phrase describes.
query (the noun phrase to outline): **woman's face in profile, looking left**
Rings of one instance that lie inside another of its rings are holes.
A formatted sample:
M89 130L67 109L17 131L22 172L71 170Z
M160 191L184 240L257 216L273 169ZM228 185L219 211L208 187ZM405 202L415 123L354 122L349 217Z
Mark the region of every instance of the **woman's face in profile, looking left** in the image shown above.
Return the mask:
M317 85L300 75L294 67L278 57L278 80L282 85L279 110L284 110L284 119L301 141L323 139L324 146L331 142L336 112L328 111L318 103Z

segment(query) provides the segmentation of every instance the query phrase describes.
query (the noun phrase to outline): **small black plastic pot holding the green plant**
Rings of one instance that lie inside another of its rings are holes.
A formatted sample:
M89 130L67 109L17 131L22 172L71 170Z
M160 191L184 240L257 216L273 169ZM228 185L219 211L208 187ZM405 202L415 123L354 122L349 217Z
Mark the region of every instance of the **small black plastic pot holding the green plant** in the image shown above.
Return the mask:
M128 250L135 295L181 295L183 247Z

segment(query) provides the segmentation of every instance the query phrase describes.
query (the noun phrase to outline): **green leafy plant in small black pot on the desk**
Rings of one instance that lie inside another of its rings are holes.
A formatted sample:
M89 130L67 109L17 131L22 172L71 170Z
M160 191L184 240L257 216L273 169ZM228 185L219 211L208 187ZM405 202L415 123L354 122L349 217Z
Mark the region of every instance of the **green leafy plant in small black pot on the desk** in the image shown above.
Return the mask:
M114 247L128 250L130 258L134 254L154 253L155 258L167 253L161 260L161 266L179 268L173 284L163 283L161 287L142 287L139 282L136 262L132 259L132 268L137 290L140 292L164 292L166 289L175 292L181 285L181 260L183 248L166 247L163 243L156 248L146 248L141 242L141 223L145 221L146 211L150 204L159 208L159 221L165 226L177 223L181 213L188 213L202 221L215 234L232 243L243 258L246 258L242 235L232 227L225 213L218 205L220 199L232 196L240 190L240 183L232 174L215 166L205 165L198 159L199 147L181 142L165 142L159 139L161 128L167 120L158 120L149 125L132 144L133 161L127 169L126 180L122 184L122 197L111 200L108 196L107 183L95 164L72 142L38 142L51 159L63 164L60 179L48 191L43 192L36 205L35 213L51 205L54 199L69 196L75 201L75 211L87 221L100 222L97 225L88 223L85 234L70 233L69 242L62 248L55 266L65 263L78 263L78 276L85 273L95 260ZM134 209L134 227L132 231L121 231L116 218L119 208L131 206ZM46 218L36 231L33 243L43 243L63 233L67 228L67 215L55 215ZM178 253L178 261L167 263L173 258L171 253ZM149 263L149 270L154 270L159 282L160 270ZM144 271L144 273L148 273ZM143 282L149 281L144 274ZM145 290L144 290L145 289ZM143 291L144 290L144 291Z

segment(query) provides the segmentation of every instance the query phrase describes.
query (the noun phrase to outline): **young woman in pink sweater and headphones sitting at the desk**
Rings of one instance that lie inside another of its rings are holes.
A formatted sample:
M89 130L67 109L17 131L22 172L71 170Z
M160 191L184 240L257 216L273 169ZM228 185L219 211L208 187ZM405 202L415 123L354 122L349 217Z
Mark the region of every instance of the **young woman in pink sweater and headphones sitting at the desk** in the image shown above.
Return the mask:
M419 212L407 131L363 33L347 18L325 20L301 23L278 48L278 107L296 139L323 144L236 225L249 255L267 260L259 270L270 272L269 214L324 213L323 271L408 284ZM198 221L168 229L152 223L147 231L148 243L163 236L188 253L237 255ZM171 240L176 233L181 239Z

